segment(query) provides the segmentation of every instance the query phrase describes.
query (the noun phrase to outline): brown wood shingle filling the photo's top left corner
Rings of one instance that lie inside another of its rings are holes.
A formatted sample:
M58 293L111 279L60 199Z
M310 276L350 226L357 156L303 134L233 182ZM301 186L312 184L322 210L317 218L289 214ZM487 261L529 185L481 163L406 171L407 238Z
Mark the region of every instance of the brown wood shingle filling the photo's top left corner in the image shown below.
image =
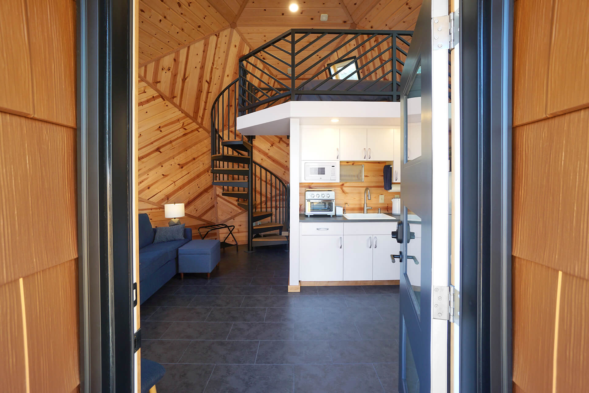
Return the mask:
M0 2L0 110L33 114L31 57L25 0Z

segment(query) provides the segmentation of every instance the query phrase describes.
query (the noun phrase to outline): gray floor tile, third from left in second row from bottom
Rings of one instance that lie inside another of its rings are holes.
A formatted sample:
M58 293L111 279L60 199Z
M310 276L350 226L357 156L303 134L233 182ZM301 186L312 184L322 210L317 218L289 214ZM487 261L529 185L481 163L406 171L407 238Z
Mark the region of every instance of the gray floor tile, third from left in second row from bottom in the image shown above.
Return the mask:
M256 364L330 364L327 341L260 341Z

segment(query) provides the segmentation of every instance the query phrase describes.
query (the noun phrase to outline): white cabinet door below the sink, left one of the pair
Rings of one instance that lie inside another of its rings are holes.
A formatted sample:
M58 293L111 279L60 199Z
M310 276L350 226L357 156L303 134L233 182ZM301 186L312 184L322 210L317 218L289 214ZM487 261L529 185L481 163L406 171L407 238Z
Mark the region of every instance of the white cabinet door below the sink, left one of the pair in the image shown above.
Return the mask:
M372 236L343 236L343 280L372 280Z

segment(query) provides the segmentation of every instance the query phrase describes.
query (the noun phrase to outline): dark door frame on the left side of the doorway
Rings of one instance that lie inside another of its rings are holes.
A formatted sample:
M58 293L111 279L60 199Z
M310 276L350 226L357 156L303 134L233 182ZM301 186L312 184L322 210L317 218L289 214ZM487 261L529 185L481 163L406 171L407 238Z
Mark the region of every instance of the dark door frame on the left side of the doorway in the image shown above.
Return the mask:
M134 391L131 1L77 1L80 391Z

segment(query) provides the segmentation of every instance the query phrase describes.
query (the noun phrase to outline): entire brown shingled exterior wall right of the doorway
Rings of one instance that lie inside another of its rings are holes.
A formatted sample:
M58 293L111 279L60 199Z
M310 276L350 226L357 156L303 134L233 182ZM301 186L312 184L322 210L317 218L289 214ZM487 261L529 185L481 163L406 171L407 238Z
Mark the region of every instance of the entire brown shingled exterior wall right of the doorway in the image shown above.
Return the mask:
M514 392L589 391L589 3L514 11Z

